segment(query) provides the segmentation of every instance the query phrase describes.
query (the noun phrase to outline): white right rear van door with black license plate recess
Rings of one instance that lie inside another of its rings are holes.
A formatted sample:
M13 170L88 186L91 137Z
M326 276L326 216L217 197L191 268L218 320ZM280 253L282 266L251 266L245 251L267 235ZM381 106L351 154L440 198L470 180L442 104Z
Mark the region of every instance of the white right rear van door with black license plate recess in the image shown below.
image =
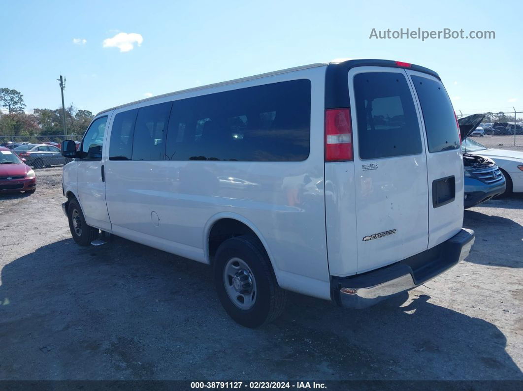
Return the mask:
M463 225L463 157L459 127L445 87L434 76L406 70L423 115L428 174L428 248Z

